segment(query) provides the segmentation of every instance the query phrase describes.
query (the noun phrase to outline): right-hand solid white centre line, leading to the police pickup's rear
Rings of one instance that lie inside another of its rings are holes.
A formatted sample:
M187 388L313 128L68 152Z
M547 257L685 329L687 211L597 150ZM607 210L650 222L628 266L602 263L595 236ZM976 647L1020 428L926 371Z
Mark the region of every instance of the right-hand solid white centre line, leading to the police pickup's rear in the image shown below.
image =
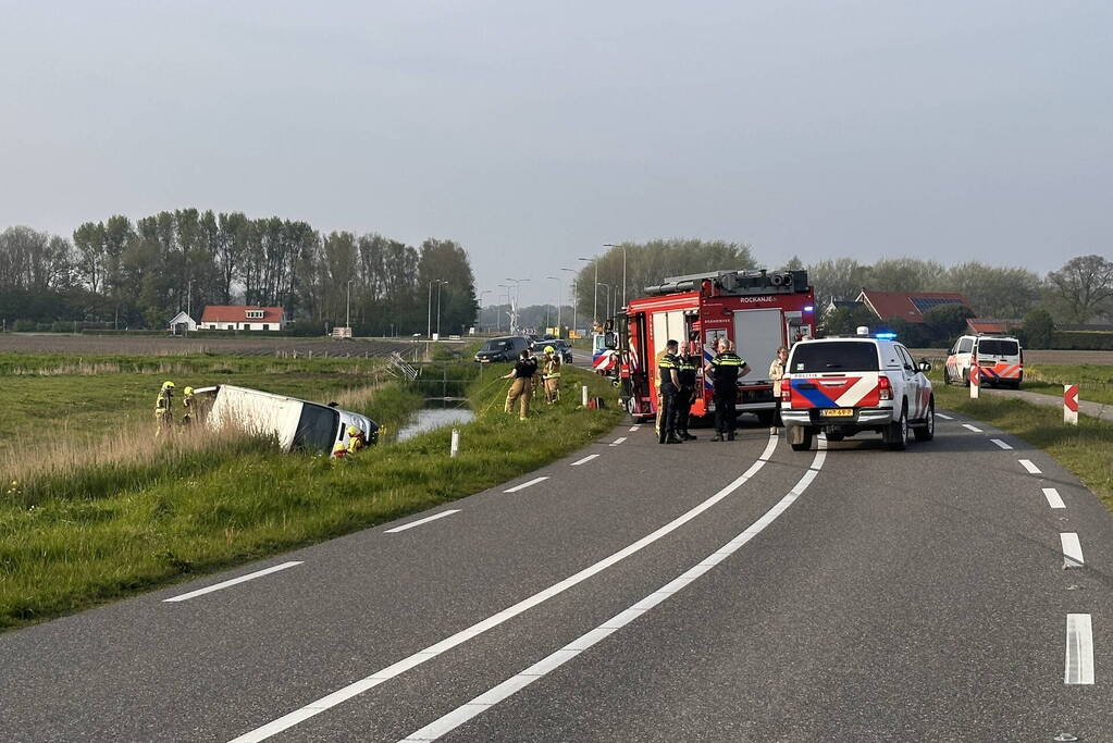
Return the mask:
M824 448L826 446L827 439L825 437L820 437L819 450L816 453L811 467L808 468L808 472L804 473L804 476L800 477L799 482L792 487L791 491L789 491L788 495L782 497L777 505L767 511L761 518L750 524L741 534L705 557L701 563L692 566L686 573L680 574L673 581L666 583L656 592L649 594L629 608L619 612L594 630L580 635L568 645L561 647L559 651L541 658L521 673L511 676L501 684L487 690L483 694L480 694L471 702L460 705L452 712L434 720L421 730L411 733L408 736L404 737L401 743L435 741L442 735L452 732L469 720L483 714L499 702L513 696L549 672L564 665L603 637L618 632L620 628L653 608L664 600L669 598L692 581L738 552L743 544L760 534L765 527L774 523L778 516L785 513L785 511L792 505L798 497L800 497L800 494L804 493L811 481L815 479L820 467L823 467L824 458L826 457Z

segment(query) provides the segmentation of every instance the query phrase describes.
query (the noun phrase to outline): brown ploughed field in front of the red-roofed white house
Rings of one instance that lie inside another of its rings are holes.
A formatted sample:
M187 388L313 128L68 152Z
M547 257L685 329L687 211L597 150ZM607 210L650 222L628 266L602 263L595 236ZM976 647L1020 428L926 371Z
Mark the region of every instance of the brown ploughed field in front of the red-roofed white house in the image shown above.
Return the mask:
M418 344L424 349L424 344ZM406 358L414 353L415 344L408 339L352 339L332 338L267 338L220 337L193 335L188 338L171 336L96 336L62 335L55 333L0 334L0 353L19 354L117 354L124 356L177 356L189 354L220 354L224 356L298 356L311 353L314 357L384 357L398 351ZM420 351L418 351L420 353Z

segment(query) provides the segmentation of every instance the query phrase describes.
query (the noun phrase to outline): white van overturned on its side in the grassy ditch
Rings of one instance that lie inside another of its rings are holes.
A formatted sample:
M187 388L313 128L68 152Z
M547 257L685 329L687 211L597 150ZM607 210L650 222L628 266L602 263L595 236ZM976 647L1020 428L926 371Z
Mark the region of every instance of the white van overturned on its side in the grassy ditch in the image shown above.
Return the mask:
M346 445L348 426L363 432L368 444L378 440L378 425L365 415L296 397L248 387L217 385L194 390L205 425L214 430L236 428L256 436L272 436L283 452L332 455Z

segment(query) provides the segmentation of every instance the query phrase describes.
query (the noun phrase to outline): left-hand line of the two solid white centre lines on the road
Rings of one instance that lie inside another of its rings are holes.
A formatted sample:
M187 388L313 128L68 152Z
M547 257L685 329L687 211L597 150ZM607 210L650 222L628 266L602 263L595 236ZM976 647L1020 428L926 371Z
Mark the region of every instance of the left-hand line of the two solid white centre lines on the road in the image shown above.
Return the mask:
M587 581L591 576L605 571L608 567L611 567L619 561L629 557L630 555L653 544L654 542L666 536L667 534L670 534L676 529L680 528L681 526L683 526L691 519L696 518L697 516L699 516L701 513L703 513L715 504L726 498L728 495L737 491L739 487L745 485L747 481L754 477L754 475L756 475L758 470L760 470L761 467L764 467L765 464L769 462L769 458L772 456L774 450L777 448L778 439L779 437L777 435L770 435L769 443L766 444L765 452L761 453L761 456L758 457L757 462L750 465L749 469L739 475L732 483L720 489L718 493L709 497L707 501L703 501L695 508L691 508L690 511L684 512L680 516L677 516L664 526L661 526L657 531L647 534L646 536L641 537L633 544L627 545L622 549L619 549L618 552L608 557L603 557L598 563L589 565L579 573L575 573L564 578L560 583L554 583L548 588L539 591L538 593L533 594L528 598L523 598L513 606L508 606L498 614L489 616L487 618L481 622L476 622L472 626L465 630L461 630L460 632L450 637L445 637L435 645L430 645L425 650L418 651L413 655L410 655L408 657L404 657L401 661L394 663L393 665L386 666L382 671L376 671L370 676L365 676L356 682L348 684L343 688L333 692L332 694L328 694L327 696L323 696L315 702L311 702L309 704L305 705L299 710L295 710L288 714L283 715L282 717L278 717L277 720L268 722L262 727L256 727L250 732L244 733L243 735L233 739L229 743L257 743L258 741L265 741L272 735L277 735L278 733L285 730L289 730L290 727L302 722L305 722L309 717L321 714L325 710L329 710L336 706L337 704L341 704L342 702L346 702L353 696L358 696L359 694L363 694L370 688L374 688L375 686L378 686L380 684L385 683L394 678L395 676L402 675L410 668L416 667L422 663L425 663L426 661L436 657L441 653L450 651L453 647L456 647L457 645L463 645L469 640L472 640L473 637L483 634L487 630L496 627L500 624L514 618L519 614L522 614L533 608L538 604L549 601L553 596L564 591L568 591L572 586Z

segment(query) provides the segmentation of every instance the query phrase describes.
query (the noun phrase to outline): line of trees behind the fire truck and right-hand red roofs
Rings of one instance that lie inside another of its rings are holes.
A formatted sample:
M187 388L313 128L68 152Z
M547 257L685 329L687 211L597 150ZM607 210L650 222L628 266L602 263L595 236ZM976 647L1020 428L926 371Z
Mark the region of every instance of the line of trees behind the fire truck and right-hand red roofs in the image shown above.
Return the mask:
M619 287L622 260L627 262L627 296L642 296L643 288L667 276L718 269L756 267L750 246L705 240L652 240L624 242L610 248L577 275L578 307L591 316L595 265L599 283ZM1113 261L1091 255L1066 261L1062 268L1041 276L1020 267L987 266L977 261L944 266L936 260L887 258L863 264L854 258L820 260L805 265L791 258L781 269L806 269L816 289L816 304L831 299L855 299L864 288L878 291L957 291L969 299L979 317L1023 318L1043 309L1061 324L1085 324L1113 318ZM602 296L602 295L600 295ZM617 303L621 304L621 303ZM603 314L600 299L599 313Z

